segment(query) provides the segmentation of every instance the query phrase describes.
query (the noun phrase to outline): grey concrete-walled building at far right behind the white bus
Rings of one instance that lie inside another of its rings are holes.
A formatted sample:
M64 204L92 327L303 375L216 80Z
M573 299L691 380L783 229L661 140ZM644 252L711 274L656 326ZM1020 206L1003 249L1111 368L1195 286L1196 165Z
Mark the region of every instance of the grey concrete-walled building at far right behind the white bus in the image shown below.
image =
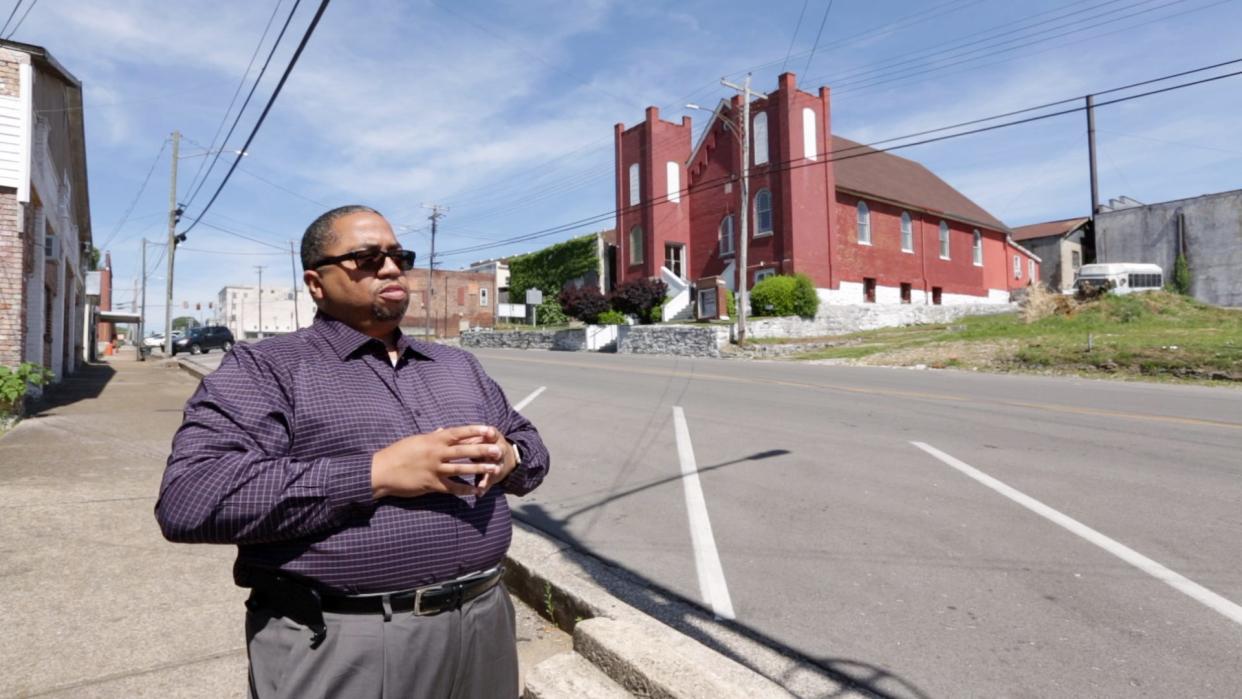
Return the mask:
M1195 298L1242 307L1242 190L1160 204L1122 197L1095 215L1095 262L1151 262L1171 279L1179 251Z

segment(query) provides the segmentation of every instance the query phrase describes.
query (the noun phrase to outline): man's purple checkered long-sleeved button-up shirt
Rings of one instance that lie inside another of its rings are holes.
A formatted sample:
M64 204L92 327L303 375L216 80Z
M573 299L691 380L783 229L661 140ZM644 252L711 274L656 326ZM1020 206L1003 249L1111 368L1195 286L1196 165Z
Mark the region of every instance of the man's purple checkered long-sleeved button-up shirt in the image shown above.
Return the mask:
M185 406L155 516L173 541L237 544L233 577L283 571L334 592L407 590L492 567L509 548L504 493L548 473L548 449L469 353L384 344L324 314L238 344ZM522 461L482 498L371 497L371 456L458 425L492 425Z

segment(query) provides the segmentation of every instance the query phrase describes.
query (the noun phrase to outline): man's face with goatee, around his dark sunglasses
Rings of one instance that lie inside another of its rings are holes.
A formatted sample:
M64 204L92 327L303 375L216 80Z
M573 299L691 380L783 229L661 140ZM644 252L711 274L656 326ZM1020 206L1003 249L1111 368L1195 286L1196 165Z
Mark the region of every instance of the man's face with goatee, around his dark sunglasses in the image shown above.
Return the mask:
M359 212L337 219L332 226L332 245L324 257L359 251L400 250L392 227L383 216ZM310 294L325 313L373 336L391 333L410 305L405 272L391 258L379 268L345 259L308 269L304 274Z

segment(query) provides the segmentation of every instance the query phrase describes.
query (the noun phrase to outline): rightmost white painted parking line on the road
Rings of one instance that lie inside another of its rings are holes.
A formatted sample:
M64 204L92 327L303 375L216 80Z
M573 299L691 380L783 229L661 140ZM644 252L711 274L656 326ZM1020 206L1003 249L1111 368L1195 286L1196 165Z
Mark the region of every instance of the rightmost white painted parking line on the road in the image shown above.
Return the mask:
M1207 606L1208 608L1225 615L1231 621L1236 623L1242 623L1242 606L1238 606L1237 603L1231 602L1225 597L1221 597L1220 595L1212 592L1207 587L1203 587L1202 585L1185 577L1181 574L1169 570L1167 567L1144 556L1143 554L1135 551L1134 549L1126 546L1125 544L1110 539L1100 534L1099 531L1095 531L1094 529L1087 526L1086 524L1078 521L1077 519L1062 514L1049 508L1048 505L1041 503L1040 500L1036 500L1030 495L1015 490L1013 488L1006 485L1005 483L1001 483L1000 480L992 478L991 476L987 476L986 473L979 471L977 468L965 462L961 462L933 446L925 444L923 442L910 442L910 443L923 449L924 452L934 456L941 462L951 466L953 468L956 468L958 471L969 476L970 478L974 478L975 480L982 483L984 485L987 485L992 490L996 490L1001 495L1005 495L1006 498L1013 500L1015 503L1022 505L1023 508L1033 512L1035 514L1047 519L1048 521L1052 521L1053 524L1068 529L1069 531L1082 536L1083 539L1090 541L1092 544L1095 544L1100 549L1104 549L1105 551L1133 565L1134 567L1141 570L1143 572L1150 575L1151 577L1155 577L1156 580L1167 584L1174 590L1177 590L1190 596L1192 600Z

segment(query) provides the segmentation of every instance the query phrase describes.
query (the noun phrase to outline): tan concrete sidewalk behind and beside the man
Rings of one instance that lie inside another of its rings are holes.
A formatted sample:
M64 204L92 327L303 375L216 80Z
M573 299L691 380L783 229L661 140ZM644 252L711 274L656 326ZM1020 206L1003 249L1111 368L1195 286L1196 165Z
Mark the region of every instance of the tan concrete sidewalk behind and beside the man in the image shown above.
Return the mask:
M122 355L0 438L0 697L246 695L233 549L169 544L153 515L196 385ZM515 606L524 672L569 651Z

